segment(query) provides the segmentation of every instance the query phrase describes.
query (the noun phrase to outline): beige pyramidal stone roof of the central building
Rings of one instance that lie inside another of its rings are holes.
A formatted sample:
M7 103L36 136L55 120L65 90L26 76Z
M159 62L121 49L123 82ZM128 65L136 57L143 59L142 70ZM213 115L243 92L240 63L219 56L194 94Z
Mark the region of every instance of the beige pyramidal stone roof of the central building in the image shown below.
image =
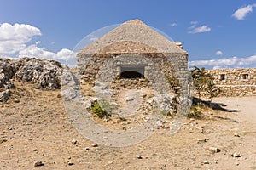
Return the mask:
M83 54L187 54L177 43L169 41L141 20L129 20L90 43Z

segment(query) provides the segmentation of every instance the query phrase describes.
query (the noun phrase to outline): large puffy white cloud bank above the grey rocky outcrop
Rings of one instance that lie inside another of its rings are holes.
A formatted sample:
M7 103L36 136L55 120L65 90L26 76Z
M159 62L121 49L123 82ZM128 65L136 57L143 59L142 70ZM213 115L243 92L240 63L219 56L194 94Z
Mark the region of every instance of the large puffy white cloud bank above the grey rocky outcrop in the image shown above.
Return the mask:
M39 48L40 41L32 43L32 38L41 36L41 31L34 26L25 24L0 25L0 55L15 59L18 57L36 57L42 59L55 59L67 65L75 65L76 53L63 48L59 52L50 52L45 48ZM32 43L28 45L28 43Z

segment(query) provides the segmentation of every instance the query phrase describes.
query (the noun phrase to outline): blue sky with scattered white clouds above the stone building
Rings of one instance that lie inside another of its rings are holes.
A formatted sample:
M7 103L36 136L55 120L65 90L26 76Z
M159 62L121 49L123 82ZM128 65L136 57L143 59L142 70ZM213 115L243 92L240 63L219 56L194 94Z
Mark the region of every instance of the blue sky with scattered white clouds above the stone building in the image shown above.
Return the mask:
M131 19L183 42L190 65L256 67L256 2L247 0L0 0L0 56L69 64L85 36Z

